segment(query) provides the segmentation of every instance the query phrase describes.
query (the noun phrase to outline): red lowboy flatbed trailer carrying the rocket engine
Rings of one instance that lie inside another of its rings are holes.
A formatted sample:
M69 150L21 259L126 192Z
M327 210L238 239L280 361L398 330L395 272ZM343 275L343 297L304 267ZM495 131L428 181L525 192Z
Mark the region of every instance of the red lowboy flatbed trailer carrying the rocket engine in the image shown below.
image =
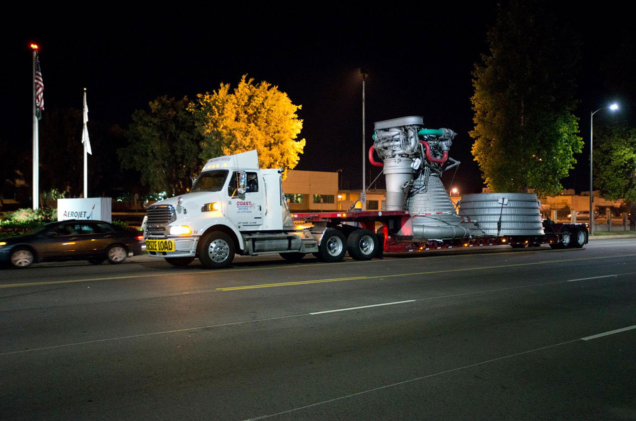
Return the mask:
M408 211L307 212L294 213L292 217L295 224L313 224L341 231L364 228L375 232L378 238L378 252L408 253L488 245L521 248L539 247L544 244L550 245L553 249L565 249L583 247L589 238L587 224L555 223L550 219L543 219L543 235L474 235L446 240L413 240L412 236L397 234L399 228L408 224L411 219Z

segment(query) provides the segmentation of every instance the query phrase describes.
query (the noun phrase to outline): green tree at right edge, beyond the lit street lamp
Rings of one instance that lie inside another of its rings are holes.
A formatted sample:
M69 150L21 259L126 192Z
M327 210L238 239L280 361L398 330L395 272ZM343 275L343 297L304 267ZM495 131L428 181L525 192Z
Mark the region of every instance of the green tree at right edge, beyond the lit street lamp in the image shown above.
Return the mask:
M630 230L636 231L636 128L615 124L599 131L594 139L595 182L603 197L625 199L632 214Z

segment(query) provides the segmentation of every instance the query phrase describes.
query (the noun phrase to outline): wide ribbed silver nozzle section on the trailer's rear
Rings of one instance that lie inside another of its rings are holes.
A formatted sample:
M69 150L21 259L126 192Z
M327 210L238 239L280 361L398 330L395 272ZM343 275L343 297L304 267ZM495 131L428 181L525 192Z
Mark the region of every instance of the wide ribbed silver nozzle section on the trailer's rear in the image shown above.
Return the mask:
M472 235L543 235L541 204L532 193L464 195L459 215ZM501 226L498 226L501 220ZM478 224L474 224L474 222Z

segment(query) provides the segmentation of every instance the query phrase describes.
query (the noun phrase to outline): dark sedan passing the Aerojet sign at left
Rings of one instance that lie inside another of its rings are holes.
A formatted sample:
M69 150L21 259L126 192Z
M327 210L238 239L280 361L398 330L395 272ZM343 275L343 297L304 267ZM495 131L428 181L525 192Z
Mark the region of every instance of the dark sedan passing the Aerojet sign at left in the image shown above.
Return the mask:
M141 254L143 236L104 221L59 221L0 240L0 263L25 268L41 261L104 260L121 263Z

